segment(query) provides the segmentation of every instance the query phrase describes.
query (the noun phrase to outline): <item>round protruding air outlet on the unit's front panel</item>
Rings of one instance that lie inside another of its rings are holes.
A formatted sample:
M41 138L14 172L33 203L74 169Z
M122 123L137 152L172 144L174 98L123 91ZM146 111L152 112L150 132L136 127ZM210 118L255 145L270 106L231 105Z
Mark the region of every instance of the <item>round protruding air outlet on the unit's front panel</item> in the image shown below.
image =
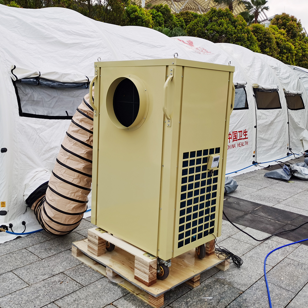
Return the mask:
M107 92L106 103L109 118L117 128L139 128L148 114L148 93L136 76L115 79Z

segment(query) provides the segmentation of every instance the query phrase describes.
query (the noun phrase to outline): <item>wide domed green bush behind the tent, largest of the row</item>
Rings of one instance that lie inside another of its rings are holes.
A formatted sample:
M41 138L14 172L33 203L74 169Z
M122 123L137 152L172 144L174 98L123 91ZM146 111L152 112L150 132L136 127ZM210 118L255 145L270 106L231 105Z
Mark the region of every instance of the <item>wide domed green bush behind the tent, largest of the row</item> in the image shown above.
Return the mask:
M207 39L214 43L233 43L260 52L258 41L242 16L236 16L229 9L211 8L186 27L189 36Z

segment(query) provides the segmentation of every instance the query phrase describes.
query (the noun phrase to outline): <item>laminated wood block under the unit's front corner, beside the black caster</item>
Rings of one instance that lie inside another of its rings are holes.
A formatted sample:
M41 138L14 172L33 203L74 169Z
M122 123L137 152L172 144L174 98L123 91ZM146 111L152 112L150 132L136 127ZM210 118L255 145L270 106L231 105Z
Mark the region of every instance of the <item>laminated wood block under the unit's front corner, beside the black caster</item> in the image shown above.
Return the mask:
M135 256L135 279L144 283L146 286L152 286L156 283L157 260L144 261Z

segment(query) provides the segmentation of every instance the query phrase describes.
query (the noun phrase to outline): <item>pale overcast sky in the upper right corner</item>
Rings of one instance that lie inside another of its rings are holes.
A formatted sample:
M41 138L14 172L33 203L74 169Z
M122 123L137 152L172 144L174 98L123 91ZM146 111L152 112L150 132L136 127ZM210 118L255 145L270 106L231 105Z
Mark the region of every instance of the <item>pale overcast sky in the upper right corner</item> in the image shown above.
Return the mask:
M267 17L286 12L300 19L308 32L308 0L268 0L270 10L265 11Z

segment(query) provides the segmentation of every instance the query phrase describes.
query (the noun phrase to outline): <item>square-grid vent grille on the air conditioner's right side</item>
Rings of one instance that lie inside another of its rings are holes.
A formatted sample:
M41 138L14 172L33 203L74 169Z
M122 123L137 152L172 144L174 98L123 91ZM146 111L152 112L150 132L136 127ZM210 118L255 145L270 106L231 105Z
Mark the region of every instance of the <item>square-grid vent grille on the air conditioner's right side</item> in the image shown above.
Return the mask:
M183 153L178 248L214 233L218 169L207 169L220 148Z

